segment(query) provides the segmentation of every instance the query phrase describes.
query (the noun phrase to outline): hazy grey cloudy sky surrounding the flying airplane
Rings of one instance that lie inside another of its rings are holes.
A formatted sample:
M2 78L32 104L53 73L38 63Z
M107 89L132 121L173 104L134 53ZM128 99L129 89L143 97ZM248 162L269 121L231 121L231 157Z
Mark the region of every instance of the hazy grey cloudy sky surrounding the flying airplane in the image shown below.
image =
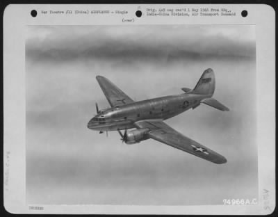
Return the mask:
M27 26L26 200L33 204L223 204L257 198L254 26ZM183 93L215 72L214 98L165 122L226 157L156 140L126 145L87 123L109 104L95 77L136 101Z

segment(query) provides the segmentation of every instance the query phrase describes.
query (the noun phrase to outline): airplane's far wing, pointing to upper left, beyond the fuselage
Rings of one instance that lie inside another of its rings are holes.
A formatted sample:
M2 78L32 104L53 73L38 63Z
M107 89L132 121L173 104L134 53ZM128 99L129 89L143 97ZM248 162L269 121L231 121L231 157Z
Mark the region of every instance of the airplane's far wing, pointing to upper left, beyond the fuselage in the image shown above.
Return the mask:
M101 87L106 99L109 104L113 106L122 106L124 104L130 104L134 102L128 95L126 95L120 88L117 88L114 83L106 79L102 76L96 77L99 82L99 86Z

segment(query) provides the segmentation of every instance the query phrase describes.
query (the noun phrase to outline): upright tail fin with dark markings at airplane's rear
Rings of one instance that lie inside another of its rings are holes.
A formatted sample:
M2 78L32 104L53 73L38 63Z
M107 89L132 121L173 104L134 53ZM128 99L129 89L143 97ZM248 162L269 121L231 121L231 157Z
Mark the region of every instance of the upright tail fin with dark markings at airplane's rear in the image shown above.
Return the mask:
M212 69L207 69L202 74L192 93L202 95L213 95L215 90L215 77Z

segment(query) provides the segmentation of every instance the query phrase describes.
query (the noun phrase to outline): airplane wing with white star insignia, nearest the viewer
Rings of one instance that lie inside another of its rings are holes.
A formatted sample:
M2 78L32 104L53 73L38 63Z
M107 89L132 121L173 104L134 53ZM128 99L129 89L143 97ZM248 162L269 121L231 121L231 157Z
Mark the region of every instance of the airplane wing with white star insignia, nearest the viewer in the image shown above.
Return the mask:
M224 156L213 152L204 145L201 145L194 140L183 136L178 131L169 127L162 120L141 120L134 123L137 128L148 128L149 138L158 140L172 147L175 147L184 152L194 154L202 159L211 161L213 163L226 163L227 159Z

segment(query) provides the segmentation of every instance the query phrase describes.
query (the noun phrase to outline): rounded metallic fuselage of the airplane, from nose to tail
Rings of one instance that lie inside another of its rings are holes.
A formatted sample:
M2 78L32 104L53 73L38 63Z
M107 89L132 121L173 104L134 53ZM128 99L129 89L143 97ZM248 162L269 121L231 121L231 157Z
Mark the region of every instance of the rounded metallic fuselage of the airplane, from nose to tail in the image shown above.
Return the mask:
M95 115L88 122L88 128L97 131L115 131L134 128L133 123L139 120L166 120L188 109L195 109L200 101L207 97L211 96L185 93L114 106Z

